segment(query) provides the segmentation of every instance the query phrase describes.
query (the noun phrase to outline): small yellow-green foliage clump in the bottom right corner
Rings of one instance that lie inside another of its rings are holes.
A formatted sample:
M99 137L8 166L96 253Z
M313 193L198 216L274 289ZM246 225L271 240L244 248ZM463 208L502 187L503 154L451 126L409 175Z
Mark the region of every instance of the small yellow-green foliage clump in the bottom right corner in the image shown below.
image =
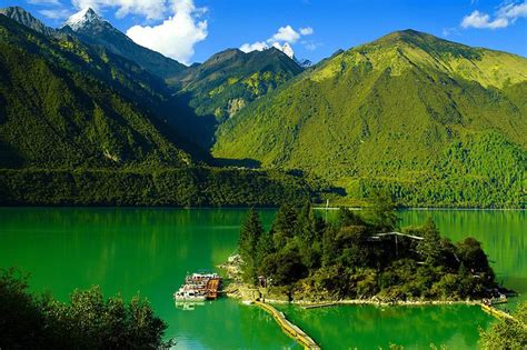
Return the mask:
M481 331L481 347L488 350L523 350L527 348L527 302L521 302L513 313L515 320L496 322Z

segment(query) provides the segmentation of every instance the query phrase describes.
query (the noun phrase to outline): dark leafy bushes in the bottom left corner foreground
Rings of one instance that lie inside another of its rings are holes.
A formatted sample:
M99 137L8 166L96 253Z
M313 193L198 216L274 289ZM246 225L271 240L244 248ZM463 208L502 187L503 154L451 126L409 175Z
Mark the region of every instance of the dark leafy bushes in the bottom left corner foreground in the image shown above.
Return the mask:
M167 324L148 301L105 300L98 287L74 290L69 302L28 291L27 277L0 271L2 349L157 349Z

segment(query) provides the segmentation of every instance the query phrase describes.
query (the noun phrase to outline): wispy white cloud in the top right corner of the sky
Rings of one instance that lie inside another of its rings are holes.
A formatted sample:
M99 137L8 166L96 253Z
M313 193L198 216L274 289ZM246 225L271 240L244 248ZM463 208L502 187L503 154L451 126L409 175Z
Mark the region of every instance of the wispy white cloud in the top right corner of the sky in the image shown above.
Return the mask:
M473 13L466 16L461 21L463 28L477 29L499 29L507 28L516 22L518 18L527 17L527 0L524 2L507 2L504 3L491 18L488 13L475 10Z

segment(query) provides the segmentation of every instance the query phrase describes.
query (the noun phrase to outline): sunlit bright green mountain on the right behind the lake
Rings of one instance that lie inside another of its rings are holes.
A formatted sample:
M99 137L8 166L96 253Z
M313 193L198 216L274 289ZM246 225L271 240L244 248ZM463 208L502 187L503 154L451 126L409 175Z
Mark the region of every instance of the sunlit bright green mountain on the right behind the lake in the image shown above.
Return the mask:
M339 53L229 119L215 157L301 169L355 203L525 207L527 59L406 30Z

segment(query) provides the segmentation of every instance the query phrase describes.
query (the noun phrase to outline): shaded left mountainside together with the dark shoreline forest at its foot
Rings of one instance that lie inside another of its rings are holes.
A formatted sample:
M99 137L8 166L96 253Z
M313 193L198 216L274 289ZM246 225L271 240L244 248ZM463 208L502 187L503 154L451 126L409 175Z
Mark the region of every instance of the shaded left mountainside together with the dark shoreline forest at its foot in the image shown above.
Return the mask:
M312 199L281 171L217 169L169 126L165 82L0 14L0 204L276 206ZM173 120L171 120L173 122Z

